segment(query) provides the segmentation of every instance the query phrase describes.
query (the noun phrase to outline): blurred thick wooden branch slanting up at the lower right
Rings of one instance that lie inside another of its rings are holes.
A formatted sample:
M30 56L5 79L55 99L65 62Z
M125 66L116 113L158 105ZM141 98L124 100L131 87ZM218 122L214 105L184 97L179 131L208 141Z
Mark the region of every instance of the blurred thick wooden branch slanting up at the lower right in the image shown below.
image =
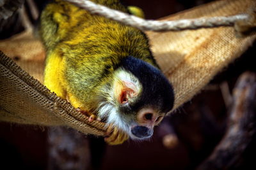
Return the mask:
M241 159L256 131L256 74L243 73L233 91L227 132L210 157L199 167L231 169Z

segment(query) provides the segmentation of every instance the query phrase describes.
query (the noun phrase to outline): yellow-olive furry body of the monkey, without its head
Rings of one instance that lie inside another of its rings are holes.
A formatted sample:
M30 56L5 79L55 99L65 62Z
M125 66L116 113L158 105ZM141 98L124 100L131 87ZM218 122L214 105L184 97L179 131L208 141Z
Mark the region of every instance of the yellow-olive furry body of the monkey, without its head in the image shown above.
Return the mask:
M95 3L128 12L117 0ZM71 97L75 107L94 107L95 95L111 80L122 58L131 55L156 66L141 31L65 1L46 6L40 34L47 49L45 85L58 96Z

